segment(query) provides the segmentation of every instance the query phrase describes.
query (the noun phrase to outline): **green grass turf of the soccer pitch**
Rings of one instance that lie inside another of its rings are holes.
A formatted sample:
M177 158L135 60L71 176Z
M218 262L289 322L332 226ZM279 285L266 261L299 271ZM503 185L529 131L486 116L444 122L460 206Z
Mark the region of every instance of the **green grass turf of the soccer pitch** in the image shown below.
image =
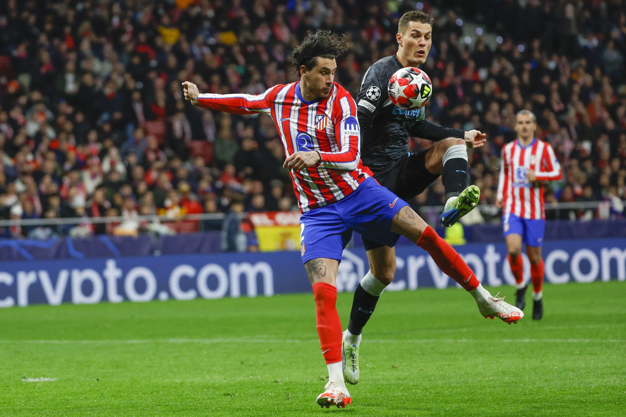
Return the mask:
M0 309L0 415L625 415L626 282L544 294L512 326L460 289L384 294L330 410L310 294Z

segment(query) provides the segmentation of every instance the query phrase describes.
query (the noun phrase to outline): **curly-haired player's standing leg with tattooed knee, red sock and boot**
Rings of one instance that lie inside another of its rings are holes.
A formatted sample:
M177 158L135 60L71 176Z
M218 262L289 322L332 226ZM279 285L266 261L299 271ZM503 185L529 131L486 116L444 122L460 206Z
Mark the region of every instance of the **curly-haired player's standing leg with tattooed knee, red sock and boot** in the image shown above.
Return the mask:
M324 392L317 396L317 404L345 407L352 404L346 388L341 361L341 321L337 312L337 269L339 262L329 258L310 259L304 264L313 286L316 304L317 335L328 368L328 383Z

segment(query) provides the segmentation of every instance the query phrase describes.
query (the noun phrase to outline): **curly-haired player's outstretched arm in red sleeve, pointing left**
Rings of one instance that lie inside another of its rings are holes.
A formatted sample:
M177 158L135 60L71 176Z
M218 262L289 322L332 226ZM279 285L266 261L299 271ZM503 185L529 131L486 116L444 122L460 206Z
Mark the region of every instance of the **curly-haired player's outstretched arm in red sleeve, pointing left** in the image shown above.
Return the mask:
M211 110L236 113L238 115L252 115L254 113L270 113L270 104L266 98L274 87L268 88L265 93L259 95L251 94L200 94L198 86L185 81L183 83L183 93L185 100L192 105L208 108Z

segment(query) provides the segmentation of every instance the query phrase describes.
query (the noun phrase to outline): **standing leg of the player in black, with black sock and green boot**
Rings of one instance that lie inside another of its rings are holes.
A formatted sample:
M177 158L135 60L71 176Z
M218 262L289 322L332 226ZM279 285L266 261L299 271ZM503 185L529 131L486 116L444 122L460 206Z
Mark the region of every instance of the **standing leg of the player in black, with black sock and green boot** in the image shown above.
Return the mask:
M348 383L359 382L359 344L361 332L372 316L384 289L396 273L396 250L381 246L367 250L371 269L354 290L348 328L344 331L344 378Z

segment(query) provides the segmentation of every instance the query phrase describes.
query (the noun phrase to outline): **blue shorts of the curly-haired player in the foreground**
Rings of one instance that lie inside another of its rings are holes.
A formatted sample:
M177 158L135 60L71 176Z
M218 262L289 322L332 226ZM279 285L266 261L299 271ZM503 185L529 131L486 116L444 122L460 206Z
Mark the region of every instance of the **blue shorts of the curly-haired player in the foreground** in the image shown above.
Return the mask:
M352 231L393 247L400 235L391 232L391 220L406 205L404 200L370 177L338 202L309 210L300 217L302 263L314 258L341 262L341 254L352 239Z

